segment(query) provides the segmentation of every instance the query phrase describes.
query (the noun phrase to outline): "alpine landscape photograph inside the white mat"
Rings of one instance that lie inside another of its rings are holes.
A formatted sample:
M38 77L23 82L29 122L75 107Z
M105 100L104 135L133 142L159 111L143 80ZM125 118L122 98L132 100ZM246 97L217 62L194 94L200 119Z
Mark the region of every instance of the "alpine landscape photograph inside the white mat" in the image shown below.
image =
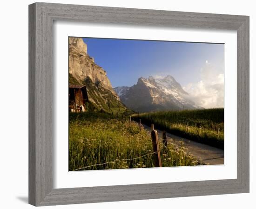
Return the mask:
M68 171L223 165L224 46L68 37Z

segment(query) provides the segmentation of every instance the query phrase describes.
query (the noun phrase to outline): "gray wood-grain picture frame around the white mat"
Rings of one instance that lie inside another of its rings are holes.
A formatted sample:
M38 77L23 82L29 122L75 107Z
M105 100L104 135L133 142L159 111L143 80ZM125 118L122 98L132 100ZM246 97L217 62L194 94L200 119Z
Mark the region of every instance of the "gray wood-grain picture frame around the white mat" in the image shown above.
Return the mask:
M237 32L237 178L53 189L54 20ZM249 17L115 7L29 5L29 203L35 206L249 192Z

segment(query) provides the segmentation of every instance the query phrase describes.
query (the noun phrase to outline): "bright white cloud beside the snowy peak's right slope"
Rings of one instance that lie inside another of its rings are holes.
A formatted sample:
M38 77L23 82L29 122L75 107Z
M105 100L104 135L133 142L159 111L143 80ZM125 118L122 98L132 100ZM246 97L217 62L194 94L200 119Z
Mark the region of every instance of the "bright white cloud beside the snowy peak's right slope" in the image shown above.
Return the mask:
M201 69L201 80L189 83L183 89L189 93L189 99L204 108L224 106L224 74L216 73L216 69L206 60Z

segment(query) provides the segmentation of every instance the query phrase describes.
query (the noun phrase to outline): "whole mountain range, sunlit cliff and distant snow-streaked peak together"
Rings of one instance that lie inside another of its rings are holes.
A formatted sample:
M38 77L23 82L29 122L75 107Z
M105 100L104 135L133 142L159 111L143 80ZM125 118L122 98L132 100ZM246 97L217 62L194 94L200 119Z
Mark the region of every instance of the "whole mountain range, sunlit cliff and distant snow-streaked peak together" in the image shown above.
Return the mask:
M182 86L168 75L139 78L137 84L113 88L107 72L94 62L82 38L69 37L69 84L86 85L90 111L165 111L199 108Z

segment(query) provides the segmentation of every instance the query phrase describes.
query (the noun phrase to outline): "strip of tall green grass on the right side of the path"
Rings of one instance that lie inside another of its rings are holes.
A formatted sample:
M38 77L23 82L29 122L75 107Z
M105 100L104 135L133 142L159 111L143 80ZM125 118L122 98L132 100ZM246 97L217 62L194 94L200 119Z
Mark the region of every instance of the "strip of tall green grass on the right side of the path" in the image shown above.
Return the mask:
M139 120L138 115L133 116ZM141 122L154 124L180 137L224 148L224 109L159 111L140 114Z

